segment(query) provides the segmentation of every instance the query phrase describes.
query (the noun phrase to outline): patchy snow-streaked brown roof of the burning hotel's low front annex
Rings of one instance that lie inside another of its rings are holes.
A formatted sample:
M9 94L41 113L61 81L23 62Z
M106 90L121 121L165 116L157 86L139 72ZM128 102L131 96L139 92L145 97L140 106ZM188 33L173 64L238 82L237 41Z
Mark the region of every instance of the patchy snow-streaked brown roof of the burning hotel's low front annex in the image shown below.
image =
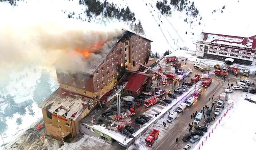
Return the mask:
M51 113L64 116L66 119L76 120L84 111L92 99L58 88L42 104L44 108Z

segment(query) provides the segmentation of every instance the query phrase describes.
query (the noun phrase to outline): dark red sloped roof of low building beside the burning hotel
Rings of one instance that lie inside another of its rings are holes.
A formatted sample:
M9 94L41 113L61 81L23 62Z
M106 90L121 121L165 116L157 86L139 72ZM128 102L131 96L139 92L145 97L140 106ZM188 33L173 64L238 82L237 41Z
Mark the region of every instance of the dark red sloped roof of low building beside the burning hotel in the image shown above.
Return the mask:
M128 83L126 84L124 89L136 92L140 88L140 86L144 84L147 78L148 74L134 72L133 74L130 74L126 77Z

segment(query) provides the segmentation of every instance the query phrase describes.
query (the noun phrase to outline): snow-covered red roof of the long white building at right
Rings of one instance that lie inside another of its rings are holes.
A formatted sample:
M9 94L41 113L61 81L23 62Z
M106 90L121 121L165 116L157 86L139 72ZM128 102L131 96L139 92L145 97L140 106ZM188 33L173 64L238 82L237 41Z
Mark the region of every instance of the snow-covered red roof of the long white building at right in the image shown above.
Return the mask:
M214 44L224 44L239 46L243 48L256 48L256 39L254 37L246 38L240 36L229 36L222 34L212 34L202 32L198 38L199 41L205 41Z

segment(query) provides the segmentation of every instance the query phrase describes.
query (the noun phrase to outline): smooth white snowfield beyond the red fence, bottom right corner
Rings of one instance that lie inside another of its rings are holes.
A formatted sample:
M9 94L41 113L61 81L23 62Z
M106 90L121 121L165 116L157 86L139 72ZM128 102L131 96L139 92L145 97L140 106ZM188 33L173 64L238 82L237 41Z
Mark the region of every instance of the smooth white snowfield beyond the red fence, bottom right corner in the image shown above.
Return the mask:
M234 107L218 124L214 133L201 146L200 150L250 150L256 147L256 104L244 100L245 94L240 92L230 94ZM248 98L255 99L255 95ZM196 149L197 150L197 149Z

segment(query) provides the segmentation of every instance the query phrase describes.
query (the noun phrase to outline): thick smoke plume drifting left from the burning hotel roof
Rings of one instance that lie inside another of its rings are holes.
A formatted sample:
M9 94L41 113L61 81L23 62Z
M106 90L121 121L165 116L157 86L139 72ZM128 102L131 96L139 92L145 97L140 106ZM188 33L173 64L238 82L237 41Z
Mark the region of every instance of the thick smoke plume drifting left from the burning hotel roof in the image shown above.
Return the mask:
M77 51L84 50L92 53L89 56L92 58L88 60L100 59L101 52L97 50L104 50L100 47L108 47L112 44L108 41L123 33L122 27L118 27L119 24L106 27L68 19L66 15L60 17L60 14L47 14L46 11L36 11L36 8L27 12L24 9L28 8L20 8L22 6L12 10L0 9L0 14L6 14L2 15L0 23L2 71L24 64L52 64L58 58L63 62L67 59L74 60L76 64L83 64L86 61ZM86 67L86 64L83 65ZM64 69L74 69L74 65L60 66Z

